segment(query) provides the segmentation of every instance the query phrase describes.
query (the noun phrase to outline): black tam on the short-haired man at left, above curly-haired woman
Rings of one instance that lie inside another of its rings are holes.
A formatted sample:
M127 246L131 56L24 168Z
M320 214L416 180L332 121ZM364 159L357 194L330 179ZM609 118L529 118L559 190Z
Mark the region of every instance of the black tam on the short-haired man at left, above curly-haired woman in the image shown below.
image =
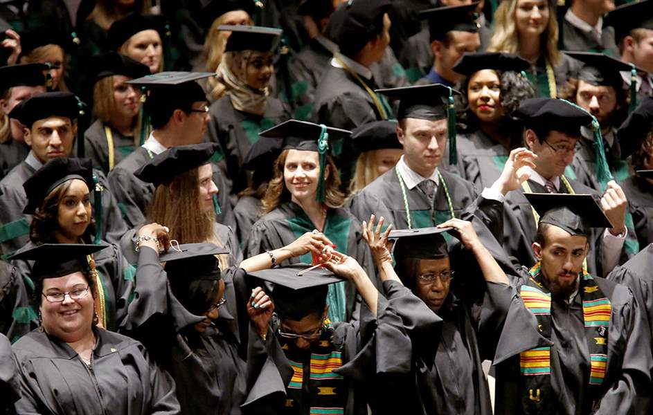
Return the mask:
M71 121L80 114L79 100L69 92L44 92L19 102L9 113L10 118L19 120L32 128L38 120L49 117L66 117Z

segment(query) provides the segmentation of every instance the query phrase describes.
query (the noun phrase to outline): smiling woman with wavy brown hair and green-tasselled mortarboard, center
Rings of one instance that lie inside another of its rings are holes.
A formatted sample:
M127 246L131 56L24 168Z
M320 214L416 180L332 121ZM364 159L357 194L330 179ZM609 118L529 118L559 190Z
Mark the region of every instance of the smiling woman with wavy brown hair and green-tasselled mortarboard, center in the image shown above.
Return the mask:
M350 131L289 120L263 131L261 140L280 140L280 155L262 200L265 213L251 228L246 257L288 245L305 232L324 234L339 252L354 257L375 275L370 252L361 239L361 223L349 210L340 192L340 175L328 147L348 138ZM283 261L282 266L319 258L301 255ZM274 262L274 261L273 261ZM332 284L328 295L332 322L349 321L355 310L355 288Z

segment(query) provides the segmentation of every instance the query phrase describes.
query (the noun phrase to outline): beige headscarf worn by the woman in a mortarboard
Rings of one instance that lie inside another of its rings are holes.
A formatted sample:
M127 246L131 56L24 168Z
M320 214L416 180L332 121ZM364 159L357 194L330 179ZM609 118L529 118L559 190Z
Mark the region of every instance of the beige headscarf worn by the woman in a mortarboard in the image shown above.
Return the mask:
M217 66L218 84L213 89L213 95L217 99L226 93L238 111L262 116L265 112L265 99L270 92L267 87L253 89L244 82L251 53L251 50L224 53Z

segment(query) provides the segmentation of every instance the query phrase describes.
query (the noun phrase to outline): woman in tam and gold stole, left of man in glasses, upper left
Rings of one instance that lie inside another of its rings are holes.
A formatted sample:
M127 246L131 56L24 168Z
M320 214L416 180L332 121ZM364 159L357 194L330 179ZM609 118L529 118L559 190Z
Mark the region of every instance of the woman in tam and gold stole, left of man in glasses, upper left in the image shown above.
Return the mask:
M109 174L134 151L139 129L141 92L127 81L150 75L150 68L125 55L111 52L96 58L93 115L84 132L86 156Z

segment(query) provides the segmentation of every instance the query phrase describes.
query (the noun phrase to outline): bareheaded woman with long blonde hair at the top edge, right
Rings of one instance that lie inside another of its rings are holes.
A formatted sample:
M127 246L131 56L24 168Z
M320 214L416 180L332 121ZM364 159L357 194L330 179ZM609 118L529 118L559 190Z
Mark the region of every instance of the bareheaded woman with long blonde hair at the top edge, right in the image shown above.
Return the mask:
M537 96L557 98L573 71L573 61L557 48L558 30L552 1L502 1L494 12L494 35L487 50L526 59L526 75Z

